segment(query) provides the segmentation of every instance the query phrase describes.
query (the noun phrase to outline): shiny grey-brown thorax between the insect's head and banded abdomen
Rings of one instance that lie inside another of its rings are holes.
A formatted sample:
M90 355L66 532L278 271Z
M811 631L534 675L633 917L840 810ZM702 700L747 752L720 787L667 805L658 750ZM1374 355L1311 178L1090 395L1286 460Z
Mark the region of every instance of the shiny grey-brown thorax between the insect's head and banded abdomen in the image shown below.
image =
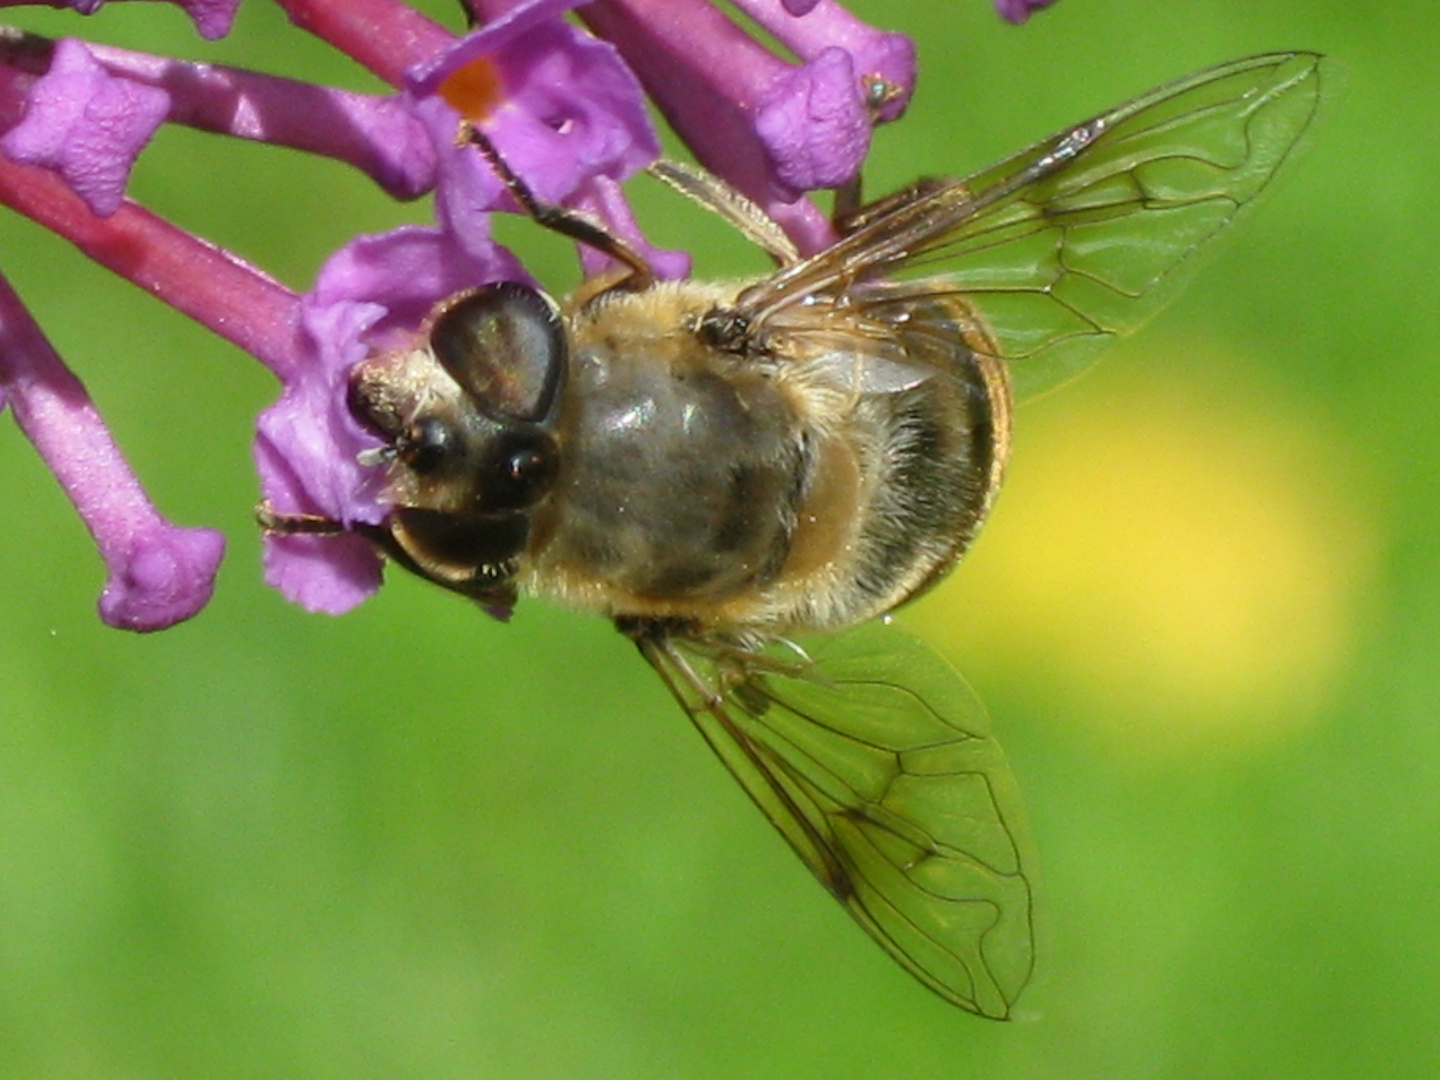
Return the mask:
M681 618L779 572L804 475L796 420L768 379L678 350L683 337L576 348L567 464L533 553L543 590Z

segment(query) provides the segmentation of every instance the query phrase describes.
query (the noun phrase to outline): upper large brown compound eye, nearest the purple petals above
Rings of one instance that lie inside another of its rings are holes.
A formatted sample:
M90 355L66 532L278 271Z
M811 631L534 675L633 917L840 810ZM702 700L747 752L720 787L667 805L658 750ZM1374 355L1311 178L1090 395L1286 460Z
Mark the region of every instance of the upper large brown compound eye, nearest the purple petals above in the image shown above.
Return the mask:
M513 281L451 300L431 324L431 351L494 420L546 419L564 380L559 310L544 294Z

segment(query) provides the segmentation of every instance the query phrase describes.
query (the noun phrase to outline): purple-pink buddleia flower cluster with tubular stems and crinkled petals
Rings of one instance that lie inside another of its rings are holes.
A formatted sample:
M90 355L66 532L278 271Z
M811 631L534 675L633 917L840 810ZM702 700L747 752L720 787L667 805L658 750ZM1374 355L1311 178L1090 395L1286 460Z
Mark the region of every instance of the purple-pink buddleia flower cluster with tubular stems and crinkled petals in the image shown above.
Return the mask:
M261 498L278 514L347 528L389 513L377 439L347 408L350 370L405 347L445 297L531 282L491 235L494 213L520 207L474 141L458 138L465 125L539 200L593 217L657 276L678 278L688 258L651 246L624 193L660 151L648 104L700 164L809 253L835 238L808 193L848 184L874 125L899 118L914 88L913 42L835 0L472 0L467 33L399 0L271 1L297 33L318 36L392 92L0 30L0 202L269 369L281 393L256 422ZM104 19L102 3L45 6ZM176 3L203 39L225 36L239 6ZM1044 4L996 6L1021 22ZM161 124L318 154L392 199L431 194L433 225L356 236L297 292L127 196L131 167ZM588 274L605 269L598 252L580 246L579 256ZM0 399L95 539L107 566L101 618L153 631L200 611L223 539L171 524L151 504L82 383L3 278ZM312 611L347 611L376 590L380 572L354 533L265 540L266 580Z

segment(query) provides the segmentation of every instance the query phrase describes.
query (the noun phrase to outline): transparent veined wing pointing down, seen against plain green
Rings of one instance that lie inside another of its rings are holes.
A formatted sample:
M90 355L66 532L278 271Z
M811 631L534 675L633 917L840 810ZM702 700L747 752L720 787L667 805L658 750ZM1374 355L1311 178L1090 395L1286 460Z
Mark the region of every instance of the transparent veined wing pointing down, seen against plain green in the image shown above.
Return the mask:
M1034 965L1034 855L1015 779L955 670L878 622L809 660L639 645L865 932L948 1001L1008 1017Z

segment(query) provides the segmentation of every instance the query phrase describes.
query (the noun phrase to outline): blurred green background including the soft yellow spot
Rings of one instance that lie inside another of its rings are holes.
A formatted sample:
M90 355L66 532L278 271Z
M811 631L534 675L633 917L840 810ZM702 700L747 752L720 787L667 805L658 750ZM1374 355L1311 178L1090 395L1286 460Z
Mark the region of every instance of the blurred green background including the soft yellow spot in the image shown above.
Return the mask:
M161 508L230 547L192 624L105 629L84 528L0 431L0 1076L1440 1070L1440 9L1061 0L1017 29L986 0L855 6L922 53L876 192L1223 59L1313 48L1348 75L1182 302L1020 412L986 536L906 616L1030 801L1045 945L1020 1021L867 942L599 621L500 626L400 575L340 619L269 592L268 376L6 216L4 272ZM258 0L213 46L148 4L24 19L372 88ZM426 213L183 131L135 194L297 287ZM716 246L706 274L757 268L638 197L662 239Z

